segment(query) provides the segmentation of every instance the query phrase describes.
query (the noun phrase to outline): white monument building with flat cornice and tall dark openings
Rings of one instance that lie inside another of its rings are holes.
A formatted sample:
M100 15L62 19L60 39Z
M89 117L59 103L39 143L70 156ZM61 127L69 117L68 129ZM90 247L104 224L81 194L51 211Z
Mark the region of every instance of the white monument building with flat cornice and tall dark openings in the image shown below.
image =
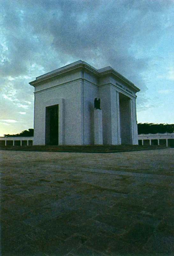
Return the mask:
M113 68L96 69L79 60L30 84L35 87L33 145L138 144L135 94L140 89Z

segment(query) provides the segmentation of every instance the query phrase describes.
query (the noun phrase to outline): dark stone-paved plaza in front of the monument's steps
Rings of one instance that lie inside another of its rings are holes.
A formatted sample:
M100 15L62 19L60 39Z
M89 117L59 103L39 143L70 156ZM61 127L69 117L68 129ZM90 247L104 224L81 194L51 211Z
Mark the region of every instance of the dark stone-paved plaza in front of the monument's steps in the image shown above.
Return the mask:
M0 151L1 256L174 255L173 159Z

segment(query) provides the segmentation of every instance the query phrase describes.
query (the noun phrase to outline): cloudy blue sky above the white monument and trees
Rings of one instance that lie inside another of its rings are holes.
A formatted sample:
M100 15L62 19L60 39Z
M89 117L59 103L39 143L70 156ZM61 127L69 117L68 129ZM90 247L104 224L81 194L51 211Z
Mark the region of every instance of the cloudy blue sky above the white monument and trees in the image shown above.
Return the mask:
M174 123L174 0L1 0L0 136L33 128L30 81L76 60L111 66L138 123Z

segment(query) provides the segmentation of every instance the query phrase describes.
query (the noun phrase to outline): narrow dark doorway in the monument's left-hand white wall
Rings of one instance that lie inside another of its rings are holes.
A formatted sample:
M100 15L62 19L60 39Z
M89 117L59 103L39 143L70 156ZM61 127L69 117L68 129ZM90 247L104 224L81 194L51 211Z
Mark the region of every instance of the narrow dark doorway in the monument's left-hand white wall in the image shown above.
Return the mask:
M46 107L45 144L59 144L59 105Z

